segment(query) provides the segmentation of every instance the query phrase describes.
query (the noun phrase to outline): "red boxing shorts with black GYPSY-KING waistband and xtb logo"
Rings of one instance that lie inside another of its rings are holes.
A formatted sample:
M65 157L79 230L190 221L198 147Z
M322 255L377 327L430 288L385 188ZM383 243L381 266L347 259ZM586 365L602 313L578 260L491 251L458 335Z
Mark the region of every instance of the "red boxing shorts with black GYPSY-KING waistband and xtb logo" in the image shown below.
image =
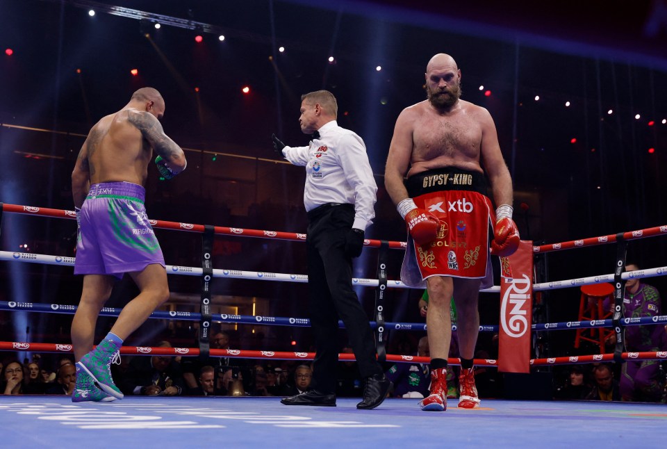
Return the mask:
M406 188L415 204L440 220L438 237L415 245L408 234L401 280L425 287L431 276L482 279L480 288L493 286L489 229L495 221L486 197L484 174L459 168L438 168L413 175Z

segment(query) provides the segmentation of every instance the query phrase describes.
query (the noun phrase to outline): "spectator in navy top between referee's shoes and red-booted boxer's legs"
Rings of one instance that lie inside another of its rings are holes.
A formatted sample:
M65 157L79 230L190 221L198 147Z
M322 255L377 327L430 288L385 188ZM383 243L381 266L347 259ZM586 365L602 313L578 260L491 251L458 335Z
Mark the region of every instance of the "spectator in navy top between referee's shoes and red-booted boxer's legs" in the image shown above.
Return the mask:
M429 338L420 338L417 346L418 357L430 357ZM390 395L395 398L425 398L429 395L431 384L431 370L428 362L394 364L386 373L387 378L394 384Z

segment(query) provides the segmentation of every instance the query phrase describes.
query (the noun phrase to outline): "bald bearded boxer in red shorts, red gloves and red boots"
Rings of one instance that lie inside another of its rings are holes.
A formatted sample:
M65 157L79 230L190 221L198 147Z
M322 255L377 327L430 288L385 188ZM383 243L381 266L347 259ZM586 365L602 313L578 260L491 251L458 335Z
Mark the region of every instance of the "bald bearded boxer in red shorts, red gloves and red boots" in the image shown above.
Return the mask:
M430 298L431 391L420 407L447 409L453 295L461 357L459 407L472 409L479 406L472 371L479 332L477 300L480 288L493 285L489 225L493 253L509 256L519 243L511 219L512 181L491 115L459 98L461 70L454 58L437 54L425 75L428 99L405 108L396 120L385 186L409 230L401 279L409 286L426 284ZM484 171L499 204L495 213L486 197Z

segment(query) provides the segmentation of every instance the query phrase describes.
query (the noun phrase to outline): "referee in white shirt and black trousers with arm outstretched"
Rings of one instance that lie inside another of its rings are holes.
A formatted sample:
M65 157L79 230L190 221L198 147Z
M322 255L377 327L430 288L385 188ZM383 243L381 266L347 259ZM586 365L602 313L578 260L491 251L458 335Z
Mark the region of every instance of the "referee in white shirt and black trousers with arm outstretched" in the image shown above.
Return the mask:
M336 405L338 319L364 379L358 409L382 403L391 382L377 362L372 330L352 289L352 258L359 257L363 234L375 216L377 185L363 140L336 123L338 104L327 90L301 97L301 131L307 147L288 147L275 135L273 145L294 165L306 167L304 205L308 213L308 305L317 353L313 389L284 398L285 405Z

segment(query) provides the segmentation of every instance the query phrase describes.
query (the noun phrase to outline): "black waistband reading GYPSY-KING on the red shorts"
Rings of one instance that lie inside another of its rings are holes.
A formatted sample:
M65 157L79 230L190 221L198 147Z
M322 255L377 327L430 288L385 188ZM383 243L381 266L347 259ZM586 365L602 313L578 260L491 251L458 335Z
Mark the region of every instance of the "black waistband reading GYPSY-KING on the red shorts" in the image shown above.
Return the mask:
M469 190L486 195L486 178L480 172L445 167L413 174L406 179L405 187L411 197L443 190Z

